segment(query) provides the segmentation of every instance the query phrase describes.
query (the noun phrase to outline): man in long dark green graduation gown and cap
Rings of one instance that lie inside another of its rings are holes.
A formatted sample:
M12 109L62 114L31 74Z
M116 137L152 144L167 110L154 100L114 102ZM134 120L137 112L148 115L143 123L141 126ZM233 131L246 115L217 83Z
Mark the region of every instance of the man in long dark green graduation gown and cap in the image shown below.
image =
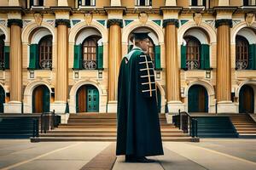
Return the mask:
M125 161L152 162L163 155L153 62L148 32L133 33L134 47L122 59L118 82L116 155Z

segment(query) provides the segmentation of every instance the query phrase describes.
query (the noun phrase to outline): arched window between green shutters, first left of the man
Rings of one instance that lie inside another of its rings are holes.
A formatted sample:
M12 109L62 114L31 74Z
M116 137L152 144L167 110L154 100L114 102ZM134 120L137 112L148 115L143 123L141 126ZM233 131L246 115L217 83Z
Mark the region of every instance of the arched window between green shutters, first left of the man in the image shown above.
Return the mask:
M96 51L97 42L100 37L87 37L82 44L83 68L86 70L95 70L97 67Z

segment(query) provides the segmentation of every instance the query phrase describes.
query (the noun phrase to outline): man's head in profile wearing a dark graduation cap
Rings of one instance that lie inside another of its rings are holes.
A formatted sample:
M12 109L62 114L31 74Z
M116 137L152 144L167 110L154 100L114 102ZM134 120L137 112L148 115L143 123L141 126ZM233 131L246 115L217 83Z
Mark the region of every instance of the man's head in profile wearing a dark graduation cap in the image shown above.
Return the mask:
M149 32L134 32L133 33L133 41L134 44L142 48L143 51L148 53L148 45L149 45L149 38L148 38L148 33Z

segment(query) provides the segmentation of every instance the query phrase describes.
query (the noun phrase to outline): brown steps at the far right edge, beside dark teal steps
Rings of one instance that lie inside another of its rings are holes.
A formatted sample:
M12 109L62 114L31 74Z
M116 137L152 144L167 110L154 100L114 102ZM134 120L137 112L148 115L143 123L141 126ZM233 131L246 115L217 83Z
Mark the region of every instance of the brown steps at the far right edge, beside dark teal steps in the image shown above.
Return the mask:
M256 138L256 122L247 114L230 116L231 122L239 133L239 138Z

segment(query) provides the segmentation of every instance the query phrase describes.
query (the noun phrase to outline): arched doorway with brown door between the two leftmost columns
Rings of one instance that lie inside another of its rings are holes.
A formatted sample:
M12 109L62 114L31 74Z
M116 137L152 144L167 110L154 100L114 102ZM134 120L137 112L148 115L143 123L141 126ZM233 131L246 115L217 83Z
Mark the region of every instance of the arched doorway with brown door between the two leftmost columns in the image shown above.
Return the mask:
M49 112L49 88L40 85L32 93L32 113Z

